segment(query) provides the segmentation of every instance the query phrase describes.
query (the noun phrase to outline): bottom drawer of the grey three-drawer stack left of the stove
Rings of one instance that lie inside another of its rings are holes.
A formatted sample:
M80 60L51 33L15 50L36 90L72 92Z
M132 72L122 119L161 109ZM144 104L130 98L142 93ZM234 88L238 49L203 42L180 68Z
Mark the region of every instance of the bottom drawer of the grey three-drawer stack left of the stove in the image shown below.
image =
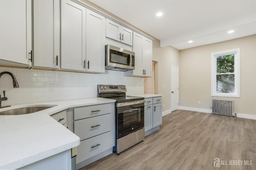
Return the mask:
M76 164L112 148L112 133L107 132L90 139L86 139L77 147Z

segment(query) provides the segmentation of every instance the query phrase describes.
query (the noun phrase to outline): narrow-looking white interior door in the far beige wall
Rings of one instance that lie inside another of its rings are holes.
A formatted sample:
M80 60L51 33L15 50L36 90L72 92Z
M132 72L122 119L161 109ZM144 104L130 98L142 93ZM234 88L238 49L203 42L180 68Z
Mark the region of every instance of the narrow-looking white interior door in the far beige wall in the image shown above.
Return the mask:
M179 103L179 67L172 65L171 68L171 111L178 109Z

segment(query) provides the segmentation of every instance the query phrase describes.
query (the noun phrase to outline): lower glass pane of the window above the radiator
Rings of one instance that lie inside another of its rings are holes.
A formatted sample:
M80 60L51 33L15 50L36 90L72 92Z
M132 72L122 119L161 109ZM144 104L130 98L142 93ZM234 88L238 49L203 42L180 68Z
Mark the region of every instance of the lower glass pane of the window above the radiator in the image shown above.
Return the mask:
M235 75L222 74L216 75L216 92L217 93L234 93L235 92Z

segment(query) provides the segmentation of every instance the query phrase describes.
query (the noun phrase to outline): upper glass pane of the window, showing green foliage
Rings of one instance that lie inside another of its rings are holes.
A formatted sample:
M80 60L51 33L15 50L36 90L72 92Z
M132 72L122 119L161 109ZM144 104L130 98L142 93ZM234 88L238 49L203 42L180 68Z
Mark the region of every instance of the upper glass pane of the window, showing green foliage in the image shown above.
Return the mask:
M217 57L217 74L234 73L234 54Z

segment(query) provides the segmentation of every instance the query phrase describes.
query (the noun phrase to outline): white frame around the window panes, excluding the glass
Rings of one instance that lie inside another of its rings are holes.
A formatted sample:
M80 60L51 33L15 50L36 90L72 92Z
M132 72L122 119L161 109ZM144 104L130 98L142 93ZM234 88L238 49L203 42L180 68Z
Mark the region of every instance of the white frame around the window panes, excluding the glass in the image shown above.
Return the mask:
M216 92L216 74L217 74L217 57L234 54L234 75L235 75L235 92L234 93L217 93ZM240 97L240 48L212 53L212 96Z

